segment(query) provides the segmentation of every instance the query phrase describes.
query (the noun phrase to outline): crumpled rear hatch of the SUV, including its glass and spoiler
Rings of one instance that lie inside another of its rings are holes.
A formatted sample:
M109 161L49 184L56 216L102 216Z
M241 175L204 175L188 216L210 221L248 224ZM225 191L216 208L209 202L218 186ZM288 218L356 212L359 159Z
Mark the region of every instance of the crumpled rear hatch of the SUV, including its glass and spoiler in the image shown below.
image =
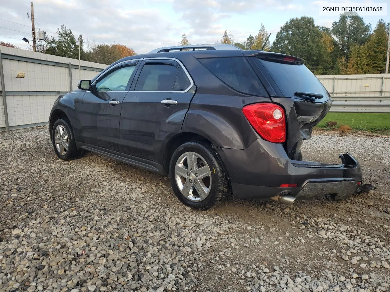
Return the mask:
M330 95L301 58L253 51L245 55L256 67L271 100L286 111L286 151L291 158L328 113L332 106Z

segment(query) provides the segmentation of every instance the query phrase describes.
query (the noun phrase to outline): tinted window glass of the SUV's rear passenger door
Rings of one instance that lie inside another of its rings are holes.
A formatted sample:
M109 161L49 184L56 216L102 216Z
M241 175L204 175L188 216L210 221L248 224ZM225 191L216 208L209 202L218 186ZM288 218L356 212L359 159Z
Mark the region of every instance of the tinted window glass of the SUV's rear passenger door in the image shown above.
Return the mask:
M138 77L135 90L172 91L177 76L177 67L171 64L145 63Z

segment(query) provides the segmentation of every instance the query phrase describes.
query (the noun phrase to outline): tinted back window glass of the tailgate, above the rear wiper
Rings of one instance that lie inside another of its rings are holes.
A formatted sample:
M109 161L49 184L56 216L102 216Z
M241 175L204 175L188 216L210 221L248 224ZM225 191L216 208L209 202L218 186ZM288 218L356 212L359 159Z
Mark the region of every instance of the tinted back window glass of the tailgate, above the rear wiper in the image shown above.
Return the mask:
M296 91L328 96L321 82L305 65L257 60L265 67L284 96L294 97Z

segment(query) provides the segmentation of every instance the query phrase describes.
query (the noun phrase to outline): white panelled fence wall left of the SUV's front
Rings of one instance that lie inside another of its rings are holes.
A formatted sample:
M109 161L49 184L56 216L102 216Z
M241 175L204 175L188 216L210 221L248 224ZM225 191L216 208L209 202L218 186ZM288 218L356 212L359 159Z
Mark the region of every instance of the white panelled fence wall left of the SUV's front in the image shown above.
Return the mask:
M11 129L48 122L51 106L60 94L77 88L80 79L92 79L107 65L71 58L34 53L0 46L4 70L9 127ZM71 62L71 81L69 78ZM24 72L24 78L16 78ZM0 85L0 90L3 90ZM5 130L2 91L0 93L0 131Z

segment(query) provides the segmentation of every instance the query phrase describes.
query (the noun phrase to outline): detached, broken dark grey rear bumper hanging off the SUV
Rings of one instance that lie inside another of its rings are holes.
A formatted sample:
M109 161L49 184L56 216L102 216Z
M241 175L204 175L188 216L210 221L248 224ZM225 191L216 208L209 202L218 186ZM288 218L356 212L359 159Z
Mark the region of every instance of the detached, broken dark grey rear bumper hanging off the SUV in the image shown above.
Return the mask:
M372 190L362 185L362 171L350 154L341 154L341 164L324 164L291 160L281 144L258 139L248 148L216 149L229 175L234 197L269 199L291 195L296 199L312 199L331 195L344 199ZM296 187L280 187L296 184Z

